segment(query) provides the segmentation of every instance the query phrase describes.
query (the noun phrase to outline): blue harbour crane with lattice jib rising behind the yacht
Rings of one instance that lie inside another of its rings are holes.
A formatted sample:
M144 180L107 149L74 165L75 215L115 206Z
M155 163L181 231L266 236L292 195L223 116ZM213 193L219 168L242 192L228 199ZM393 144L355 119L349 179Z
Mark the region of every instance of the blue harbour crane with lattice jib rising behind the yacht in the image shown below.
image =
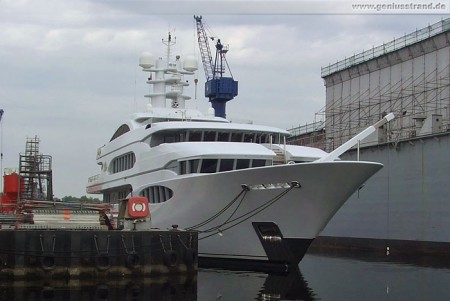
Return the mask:
M216 57L213 61L211 49L209 48L208 35L202 22L202 16L194 16L197 25L198 45L202 57L203 69L205 70L205 97L209 98L215 111L215 116L225 118L225 106L227 101L238 95L238 82L233 79L230 67L225 57L228 48L224 47L217 39ZM213 37L211 37L214 40ZM231 77L224 76L225 67Z

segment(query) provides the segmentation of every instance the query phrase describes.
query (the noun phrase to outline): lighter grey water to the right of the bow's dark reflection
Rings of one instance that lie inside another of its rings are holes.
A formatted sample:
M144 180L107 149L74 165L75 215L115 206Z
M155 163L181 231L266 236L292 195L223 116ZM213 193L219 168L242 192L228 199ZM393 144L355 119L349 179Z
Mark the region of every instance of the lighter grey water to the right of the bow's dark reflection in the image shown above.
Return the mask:
M450 300L448 259L305 256L300 270L317 299Z

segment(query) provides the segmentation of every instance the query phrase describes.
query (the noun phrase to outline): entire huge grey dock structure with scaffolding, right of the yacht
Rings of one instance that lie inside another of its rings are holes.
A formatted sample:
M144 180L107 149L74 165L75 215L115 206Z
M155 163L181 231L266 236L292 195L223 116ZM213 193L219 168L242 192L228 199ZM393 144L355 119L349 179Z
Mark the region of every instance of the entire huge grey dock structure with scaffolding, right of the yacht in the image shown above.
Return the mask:
M331 151L385 114L396 118L341 156L384 168L317 245L450 255L450 19L323 67L321 76L324 122L291 129L290 143Z

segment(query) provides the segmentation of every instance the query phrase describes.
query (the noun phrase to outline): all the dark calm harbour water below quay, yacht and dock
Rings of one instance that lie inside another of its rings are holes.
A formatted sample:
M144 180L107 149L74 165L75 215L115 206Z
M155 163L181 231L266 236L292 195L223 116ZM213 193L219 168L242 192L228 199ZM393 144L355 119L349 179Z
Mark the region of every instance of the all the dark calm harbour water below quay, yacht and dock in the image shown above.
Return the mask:
M144 281L0 283L0 300L450 300L450 265L307 255L298 271L200 269Z

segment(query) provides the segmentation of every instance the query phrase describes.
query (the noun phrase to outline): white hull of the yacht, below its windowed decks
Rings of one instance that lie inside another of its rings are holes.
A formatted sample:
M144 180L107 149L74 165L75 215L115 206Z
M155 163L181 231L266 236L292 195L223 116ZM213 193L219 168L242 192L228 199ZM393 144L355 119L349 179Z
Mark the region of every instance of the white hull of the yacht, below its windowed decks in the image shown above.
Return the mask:
M286 188L250 190L217 218L196 228L201 232L200 256L265 260L266 253L252 222L274 222L284 237L312 240L347 198L381 167L369 162L303 163L195 174L156 182L152 185L168 187L174 196L164 203L151 205L152 226L170 228L176 224L191 228L232 202L242 192L242 184L297 181L300 188L290 189L273 203L271 200ZM136 194L140 190L135 189ZM265 205L268 207L251 216ZM209 232L202 232L208 229Z

